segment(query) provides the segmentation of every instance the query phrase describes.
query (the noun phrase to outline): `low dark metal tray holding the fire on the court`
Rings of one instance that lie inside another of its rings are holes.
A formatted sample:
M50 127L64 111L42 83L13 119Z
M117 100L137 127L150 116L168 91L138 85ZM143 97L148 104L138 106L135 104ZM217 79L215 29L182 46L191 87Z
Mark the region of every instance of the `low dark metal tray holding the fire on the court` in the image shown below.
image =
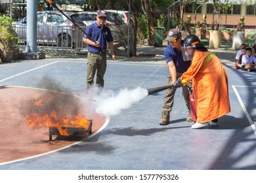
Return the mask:
M89 120L89 129L85 130L83 127L62 127L62 129L66 129L69 135L62 135L62 136L83 136L87 137L88 135L92 134L92 126L93 120ZM60 135L60 131L57 127L49 127L49 141L53 141L53 135Z

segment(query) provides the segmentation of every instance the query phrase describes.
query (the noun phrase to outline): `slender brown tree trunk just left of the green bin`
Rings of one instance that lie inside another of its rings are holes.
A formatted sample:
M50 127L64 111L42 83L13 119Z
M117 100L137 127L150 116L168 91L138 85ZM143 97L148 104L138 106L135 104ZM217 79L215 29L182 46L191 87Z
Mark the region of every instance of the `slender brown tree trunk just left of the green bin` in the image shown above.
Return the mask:
M149 29L149 46L154 45L154 36L155 36L155 27L156 27L156 18L154 17L154 12L150 5L150 0L144 0L146 16L148 18L148 29Z

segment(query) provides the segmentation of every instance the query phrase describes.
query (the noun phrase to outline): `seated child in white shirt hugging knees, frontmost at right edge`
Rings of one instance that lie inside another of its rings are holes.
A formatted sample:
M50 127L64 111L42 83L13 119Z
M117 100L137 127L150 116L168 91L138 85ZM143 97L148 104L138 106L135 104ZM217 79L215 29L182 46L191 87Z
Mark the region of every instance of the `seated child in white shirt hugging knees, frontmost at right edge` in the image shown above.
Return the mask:
M256 58L252 55L251 48L246 48L246 55L242 57L242 70L256 71Z

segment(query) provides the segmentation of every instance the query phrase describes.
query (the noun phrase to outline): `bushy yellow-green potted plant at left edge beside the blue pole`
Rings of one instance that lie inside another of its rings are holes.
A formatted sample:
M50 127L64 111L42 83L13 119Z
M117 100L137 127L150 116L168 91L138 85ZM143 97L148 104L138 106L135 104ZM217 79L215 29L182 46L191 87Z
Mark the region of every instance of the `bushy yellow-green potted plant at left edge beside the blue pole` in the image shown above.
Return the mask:
M0 16L0 51L2 62L12 60L12 47L18 44L18 36L12 27L12 18L7 15Z

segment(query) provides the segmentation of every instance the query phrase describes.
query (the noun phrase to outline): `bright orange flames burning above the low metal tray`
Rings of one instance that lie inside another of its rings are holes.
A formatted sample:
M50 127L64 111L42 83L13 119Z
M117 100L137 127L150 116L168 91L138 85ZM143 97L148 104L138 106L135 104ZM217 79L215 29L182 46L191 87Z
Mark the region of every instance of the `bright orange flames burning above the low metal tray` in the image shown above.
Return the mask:
M32 105L32 112L26 115L26 124L32 129L42 127L56 127L60 135L69 135L66 127L83 127L85 130L89 129L90 122L85 117L86 114L60 115L55 110L45 112L43 100L39 99Z

